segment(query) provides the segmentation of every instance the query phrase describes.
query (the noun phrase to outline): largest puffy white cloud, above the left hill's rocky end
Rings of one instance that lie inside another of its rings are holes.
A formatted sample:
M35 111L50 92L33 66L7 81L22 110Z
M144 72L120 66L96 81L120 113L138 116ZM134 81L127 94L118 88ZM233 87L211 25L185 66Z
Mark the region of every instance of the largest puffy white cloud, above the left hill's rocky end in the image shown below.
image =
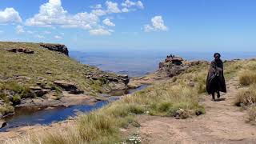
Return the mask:
M96 14L82 12L78 14L68 14L62 7L61 0L49 0L42 4L38 14L26 20L27 26L62 26L70 28L91 29L99 22Z

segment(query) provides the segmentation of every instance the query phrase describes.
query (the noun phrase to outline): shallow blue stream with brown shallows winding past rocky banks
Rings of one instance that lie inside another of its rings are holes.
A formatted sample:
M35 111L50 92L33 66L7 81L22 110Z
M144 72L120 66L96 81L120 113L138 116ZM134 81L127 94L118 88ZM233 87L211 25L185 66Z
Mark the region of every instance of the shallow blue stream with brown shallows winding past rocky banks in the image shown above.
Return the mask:
M145 89L147 85L142 85L137 89L118 91L113 93L113 96L121 96L122 94L133 94L138 90ZM117 100L118 97L110 97L110 101ZM22 107L15 110L15 114L6 118L7 126L0 129L0 132L5 132L10 128L20 127L20 126L34 126L40 125L50 125L53 122L60 122L66 120L69 117L74 117L78 112L88 113L92 110L106 106L109 101L100 101L94 105L78 105L78 106L61 106L54 108L46 107Z

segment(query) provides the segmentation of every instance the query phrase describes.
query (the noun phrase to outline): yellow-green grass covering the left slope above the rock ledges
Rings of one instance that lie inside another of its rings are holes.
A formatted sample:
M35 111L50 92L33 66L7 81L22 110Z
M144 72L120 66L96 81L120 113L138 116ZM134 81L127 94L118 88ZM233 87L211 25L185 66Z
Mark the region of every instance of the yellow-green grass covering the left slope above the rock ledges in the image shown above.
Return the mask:
M3 48L24 48L34 50L34 54L14 54ZM50 84L54 80L66 80L75 82L78 88L97 94L98 91L105 92L102 89L104 84L93 82L87 79L87 72L98 71L94 66L83 65L64 54L58 54L39 46L38 43L26 42L0 42L0 78L14 77L14 75L22 75L31 79L26 84L33 86L35 82L40 81L39 78L45 78L46 84ZM46 74L50 71L52 74ZM107 86L105 86L107 87Z

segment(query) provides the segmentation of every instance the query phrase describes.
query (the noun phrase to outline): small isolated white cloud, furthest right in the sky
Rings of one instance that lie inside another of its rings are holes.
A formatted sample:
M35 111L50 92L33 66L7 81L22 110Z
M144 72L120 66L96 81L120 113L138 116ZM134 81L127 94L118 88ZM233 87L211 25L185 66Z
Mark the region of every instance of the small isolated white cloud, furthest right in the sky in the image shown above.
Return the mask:
M162 16L155 16L154 18L151 18L151 22L152 22L152 26L145 25L144 31L150 32L150 31L166 31L166 30L168 30L167 26L165 26Z

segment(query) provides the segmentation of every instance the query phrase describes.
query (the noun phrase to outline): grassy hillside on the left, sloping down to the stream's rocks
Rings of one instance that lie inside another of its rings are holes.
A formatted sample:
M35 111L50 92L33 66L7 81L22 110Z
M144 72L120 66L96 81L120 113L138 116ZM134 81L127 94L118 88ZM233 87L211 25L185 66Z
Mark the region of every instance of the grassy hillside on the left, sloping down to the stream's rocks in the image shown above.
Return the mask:
M34 54L7 51L11 48L33 50ZM110 90L104 79L87 78L88 73L100 75L104 72L96 67L83 65L65 54L42 48L38 43L0 42L0 116L12 112L14 109L11 105L20 102L21 98L34 98L36 95L30 93L30 86L38 86L38 83L57 92L61 90L54 86L55 80L74 82L89 95ZM116 77L116 74L106 74ZM7 98L6 91L12 98ZM2 102L5 104L2 105Z

